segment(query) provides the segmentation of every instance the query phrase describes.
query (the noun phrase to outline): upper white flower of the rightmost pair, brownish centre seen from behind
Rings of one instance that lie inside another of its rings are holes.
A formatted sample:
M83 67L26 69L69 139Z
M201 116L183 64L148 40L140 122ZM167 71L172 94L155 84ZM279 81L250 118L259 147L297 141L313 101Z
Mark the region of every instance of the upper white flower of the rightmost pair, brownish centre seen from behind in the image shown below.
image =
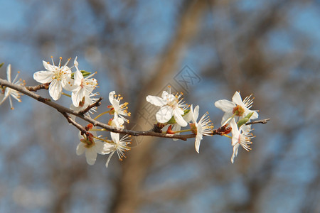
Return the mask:
M253 103L253 99L250 99L251 96L252 94L242 101L240 93L235 92L232 102L225 99L215 102L215 107L225 112L221 120L221 126L230 121L230 118L234 115L238 116L239 119L243 119L247 114L253 112L250 119L257 119L259 116L257 110L250 110Z

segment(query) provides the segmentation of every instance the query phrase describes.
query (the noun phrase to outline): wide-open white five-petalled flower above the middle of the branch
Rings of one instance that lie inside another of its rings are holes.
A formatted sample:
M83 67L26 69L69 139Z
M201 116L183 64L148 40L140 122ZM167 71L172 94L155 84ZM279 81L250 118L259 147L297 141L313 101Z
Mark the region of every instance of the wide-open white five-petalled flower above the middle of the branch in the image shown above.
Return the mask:
M148 95L146 97L147 102L150 102L157 107L161 107L159 111L156 112L156 121L164 124L174 116L177 124L180 126L187 126L188 123L182 118L182 116L184 114L183 110L186 109L188 105L183 104L183 99L180 99L182 95L182 92L179 95L171 94L171 87L168 87L168 92L162 92L161 97Z

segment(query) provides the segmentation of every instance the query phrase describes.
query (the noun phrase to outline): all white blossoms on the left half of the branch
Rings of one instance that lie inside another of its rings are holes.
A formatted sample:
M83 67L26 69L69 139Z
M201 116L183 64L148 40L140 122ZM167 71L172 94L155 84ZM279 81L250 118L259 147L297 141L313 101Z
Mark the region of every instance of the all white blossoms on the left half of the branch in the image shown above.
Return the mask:
M70 59L68 59L64 65L61 65L62 58L60 58L58 65L55 65L52 57L51 59L52 65L50 62L43 61L43 67L45 70L35 72L33 74L33 79L41 84L48 85L48 92L53 100L56 101L60 99L62 94L70 97L72 101L70 109L73 109L74 111L86 109L88 106L97 101L97 98L95 97L98 95L98 93L93 92L97 87L97 80L92 78L96 72L90 74L85 71L80 71L77 58L75 58L72 67L68 67ZM72 71L73 68L75 68L74 72ZM11 82L11 65L9 65L7 68L7 76L8 81ZM20 84L21 81L16 81L16 79L17 77L13 83ZM63 92L63 89L67 93ZM71 94L68 94L68 92ZM4 102L7 97L10 98L11 109L13 109L11 96L17 99L18 102L21 102L20 93L14 89L10 89L9 87L1 87L0 94L3 96L0 96L0 103ZM130 113L127 112L126 107L128 103L120 104L122 97L120 95L115 95L114 91L110 92L109 99L111 105L108 106L108 108L110 108L110 110L102 114L109 113L110 115L113 115L108 124L110 126L123 129L124 121L129 123L129 120L124 118L124 116L130 116ZM89 112L93 114L96 111L96 108L97 107L92 107ZM102 114L100 114L100 116L102 116ZM89 113L86 115L90 116ZM97 116L96 119L100 116ZM70 117L71 119L75 120L75 116L71 115ZM114 152L117 152L119 159L122 160L124 157L124 152L129 151L129 136L124 136L120 139L119 133L111 132L110 140L107 137L103 138L102 136L97 136L97 131L105 131L104 129L97 129L92 124L87 125L86 129L88 130L88 133L79 133L80 143L77 146L76 153L77 155L85 153L85 158L89 165L93 165L95 163L97 154L109 154L109 158L107 159L106 163L107 167Z

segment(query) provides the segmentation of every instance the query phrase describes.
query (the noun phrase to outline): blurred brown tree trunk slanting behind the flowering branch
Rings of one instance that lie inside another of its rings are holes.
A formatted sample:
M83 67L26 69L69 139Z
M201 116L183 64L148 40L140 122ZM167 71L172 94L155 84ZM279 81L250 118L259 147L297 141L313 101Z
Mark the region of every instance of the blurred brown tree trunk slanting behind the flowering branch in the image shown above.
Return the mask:
M164 87L165 80L176 72L179 59L183 54L183 48L186 48L198 32L203 11L207 7L206 1L184 2L180 20L176 24L176 33L161 56L158 66L153 72L154 77L142 89L138 103L144 104L147 94L159 92ZM142 104L138 104L137 110L142 107ZM136 117L132 119L137 121L137 124L142 126L142 129L149 128L149 126L143 124L145 122L142 118ZM144 141L139 148L128 153L128 158L123 163L123 174L117 185L117 195L114 197L114 205L111 212L136 212L139 208L140 190L143 188L142 184L149 167L149 157L154 146L154 143L152 143L154 140L155 138L144 137Z

